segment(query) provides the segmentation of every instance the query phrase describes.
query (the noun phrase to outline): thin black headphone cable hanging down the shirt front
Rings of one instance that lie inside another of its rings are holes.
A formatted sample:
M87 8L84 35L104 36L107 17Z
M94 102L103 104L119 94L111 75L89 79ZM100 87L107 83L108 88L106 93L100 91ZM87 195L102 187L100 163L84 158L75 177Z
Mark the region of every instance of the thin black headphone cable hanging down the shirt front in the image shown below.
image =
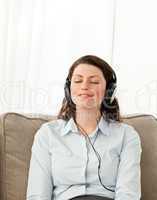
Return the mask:
M88 140L89 140L89 143L90 143L90 145L92 146L92 148L93 148L93 150L94 150L94 153L95 153L95 155L96 155L96 157L97 157L97 159L98 159L98 162L99 162L99 164L98 164L98 177L99 177L99 182L100 182L100 184L101 184L106 190L109 190L110 192L115 192L115 190L112 190L112 189L110 189L110 188L107 188L107 187L102 183L102 180L101 180L101 177L100 177L101 156L100 156L99 153L96 151L96 149L95 149L95 147L93 146L93 144L92 144L92 142L91 142L91 140L90 140L88 134L86 133L86 131L85 131L82 127L80 127L80 125L77 124L76 121L75 121L75 123L76 123L76 125L78 126L79 130L80 130L80 131L82 130L83 133L85 133L85 135L87 136L87 138L88 138ZM98 123L99 123L99 121L97 120L97 125L98 125ZM98 130L98 131L99 131L99 130ZM83 134L83 135L84 135L84 134Z

